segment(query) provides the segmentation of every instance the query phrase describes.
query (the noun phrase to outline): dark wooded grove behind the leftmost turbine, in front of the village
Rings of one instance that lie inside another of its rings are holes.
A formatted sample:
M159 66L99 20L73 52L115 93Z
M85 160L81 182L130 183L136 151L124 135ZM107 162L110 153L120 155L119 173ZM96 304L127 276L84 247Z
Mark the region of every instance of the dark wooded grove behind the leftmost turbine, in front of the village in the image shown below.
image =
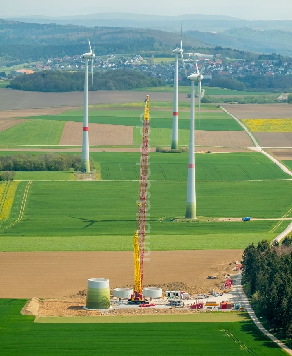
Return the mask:
M109 70L93 74L93 90L126 90L164 85L159 78L147 77L144 73L133 70ZM91 87L91 78L89 86ZM16 77L10 81L10 88L51 92L84 90L84 72L43 70Z

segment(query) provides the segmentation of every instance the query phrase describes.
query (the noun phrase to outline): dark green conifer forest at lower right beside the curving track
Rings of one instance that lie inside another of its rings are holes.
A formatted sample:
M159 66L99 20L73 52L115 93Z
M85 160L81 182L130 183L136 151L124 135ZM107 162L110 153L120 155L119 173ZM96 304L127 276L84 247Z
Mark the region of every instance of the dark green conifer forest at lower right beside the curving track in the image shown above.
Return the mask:
M257 315L264 316L280 337L291 339L292 237L285 237L280 246L267 240L249 245L242 263L244 283L249 283Z

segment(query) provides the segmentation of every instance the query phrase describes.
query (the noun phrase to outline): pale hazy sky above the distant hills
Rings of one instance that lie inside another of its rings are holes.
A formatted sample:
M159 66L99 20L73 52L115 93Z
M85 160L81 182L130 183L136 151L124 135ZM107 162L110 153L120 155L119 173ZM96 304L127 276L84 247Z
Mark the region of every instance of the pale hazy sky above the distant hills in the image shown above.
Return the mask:
M209 0L207 1L208 6L195 6L195 2L191 0L111 0L104 2L102 6L98 5L98 0L86 0L84 4L80 0L12 0L1 2L0 18L28 15L72 16L98 12L134 12L139 14L145 12L145 14L155 15L205 14L228 15L247 20L292 20L291 0L244 0L241 2ZM236 6L236 3L240 5ZM199 4L202 4L202 1Z

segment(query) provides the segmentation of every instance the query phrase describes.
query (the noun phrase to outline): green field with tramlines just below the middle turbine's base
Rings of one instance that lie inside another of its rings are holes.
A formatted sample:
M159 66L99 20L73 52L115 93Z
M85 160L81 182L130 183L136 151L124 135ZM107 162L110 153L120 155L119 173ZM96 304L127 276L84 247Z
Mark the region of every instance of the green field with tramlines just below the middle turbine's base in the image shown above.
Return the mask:
M188 132L186 132L186 139L187 134ZM140 153L125 155L119 152L91 152L90 156L95 162L101 163L102 179L139 179L140 166L137 166L136 162L139 162ZM261 153L217 153L211 155L198 153L195 155L195 162L197 180L290 178ZM188 153L151 153L149 163L150 180L187 180Z

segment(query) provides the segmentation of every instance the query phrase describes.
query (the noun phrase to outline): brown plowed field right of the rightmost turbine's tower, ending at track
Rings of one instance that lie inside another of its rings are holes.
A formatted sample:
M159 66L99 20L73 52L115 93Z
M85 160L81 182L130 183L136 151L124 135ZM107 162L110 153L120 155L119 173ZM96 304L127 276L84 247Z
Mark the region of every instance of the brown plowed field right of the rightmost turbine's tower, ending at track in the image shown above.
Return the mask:
M195 130L196 146L253 146L245 131L203 131Z

